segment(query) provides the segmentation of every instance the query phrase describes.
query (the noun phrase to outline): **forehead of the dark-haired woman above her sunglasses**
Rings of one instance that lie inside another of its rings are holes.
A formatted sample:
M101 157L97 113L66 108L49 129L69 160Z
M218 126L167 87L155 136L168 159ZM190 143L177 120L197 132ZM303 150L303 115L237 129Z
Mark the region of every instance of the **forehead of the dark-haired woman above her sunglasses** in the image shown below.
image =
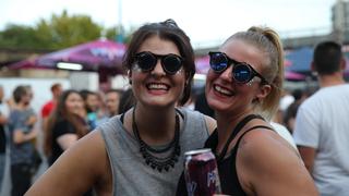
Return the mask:
M174 53L180 56L179 49L173 41L161 39L157 35L151 36L142 42L137 52L142 51L151 51L156 54Z

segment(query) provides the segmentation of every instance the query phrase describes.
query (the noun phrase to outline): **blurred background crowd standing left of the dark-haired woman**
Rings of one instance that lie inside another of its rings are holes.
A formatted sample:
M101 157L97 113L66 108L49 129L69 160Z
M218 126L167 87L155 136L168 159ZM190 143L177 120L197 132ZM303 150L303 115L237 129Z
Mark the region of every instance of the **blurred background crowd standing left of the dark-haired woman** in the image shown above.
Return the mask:
M119 102L128 100L123 96L129 96L121 89L105 94L77 91L63 89L61 84L55 83L50 89L52 98L36 113L32 106L35 91L29 85L16 86L8 100L3 100L3 88L0 86L0 184L9 146L11 195L24 195L43 160L48 167L52 166L77 139L119 114ZM131 102L121 105L124 109L132 107Z

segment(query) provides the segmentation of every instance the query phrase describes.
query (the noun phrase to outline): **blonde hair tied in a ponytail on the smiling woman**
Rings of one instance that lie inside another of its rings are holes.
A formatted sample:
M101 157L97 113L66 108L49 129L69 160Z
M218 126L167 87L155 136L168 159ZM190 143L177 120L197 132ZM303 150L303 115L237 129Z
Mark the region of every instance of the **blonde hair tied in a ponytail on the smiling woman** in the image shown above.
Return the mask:
M262 62L261 74L272 86L272 90L263 100L256 101L255 107L264 118L270 120L278 109L284 85L284 50L280 38L268 27L252 26L246 32L232 35L224 45L231 39L245 41L260 49L266 57Z

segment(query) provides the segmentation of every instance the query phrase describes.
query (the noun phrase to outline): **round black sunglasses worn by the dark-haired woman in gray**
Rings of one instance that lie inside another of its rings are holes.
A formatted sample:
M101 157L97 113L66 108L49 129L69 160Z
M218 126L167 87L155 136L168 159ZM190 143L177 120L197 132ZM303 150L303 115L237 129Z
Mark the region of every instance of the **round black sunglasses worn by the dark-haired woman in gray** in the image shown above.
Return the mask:
M143 72L154 70L158 59L160 59L164 71L169 75L173 75L180 71L183 64L183 59L173 53L160 56L149 51L143 51L135 54L135 63Z

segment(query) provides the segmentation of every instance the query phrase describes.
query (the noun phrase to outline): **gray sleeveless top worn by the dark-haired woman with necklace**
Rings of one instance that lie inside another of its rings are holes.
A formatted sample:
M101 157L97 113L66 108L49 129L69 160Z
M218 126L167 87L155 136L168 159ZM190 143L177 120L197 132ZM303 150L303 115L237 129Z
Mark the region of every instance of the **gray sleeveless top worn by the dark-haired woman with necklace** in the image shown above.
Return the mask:
M125 131L120 115L99 127L111 166L113 195L176 195L177 183L183 171L184 152L202 148L208 137L203 114L186 109L180 111L184 117L184 126L180 131L181 155L169 171L158 172L144 162L137 140Z

